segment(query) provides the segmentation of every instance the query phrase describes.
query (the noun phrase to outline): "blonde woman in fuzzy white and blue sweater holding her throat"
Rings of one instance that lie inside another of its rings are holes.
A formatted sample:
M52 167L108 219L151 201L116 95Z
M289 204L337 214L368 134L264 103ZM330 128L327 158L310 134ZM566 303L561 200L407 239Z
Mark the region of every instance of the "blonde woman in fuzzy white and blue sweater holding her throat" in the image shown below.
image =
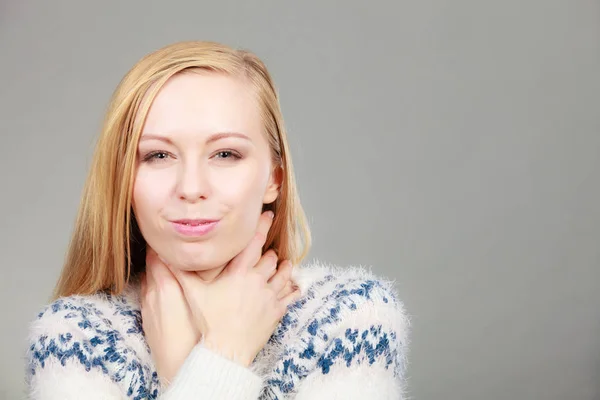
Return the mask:
M279 101L253 54L166 46L115 91L53 303L34 399L399 399L393 283L302 265L310 235Z

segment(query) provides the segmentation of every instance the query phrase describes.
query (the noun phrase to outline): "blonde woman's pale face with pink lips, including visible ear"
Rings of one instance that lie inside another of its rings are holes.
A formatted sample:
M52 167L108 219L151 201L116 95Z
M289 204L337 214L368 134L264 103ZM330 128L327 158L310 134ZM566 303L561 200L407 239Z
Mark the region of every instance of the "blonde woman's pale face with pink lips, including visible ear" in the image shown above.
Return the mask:
M171 266L222 268L254 236L279 183L248 83L213 72L172 77L140 137L133 209L148 246Z

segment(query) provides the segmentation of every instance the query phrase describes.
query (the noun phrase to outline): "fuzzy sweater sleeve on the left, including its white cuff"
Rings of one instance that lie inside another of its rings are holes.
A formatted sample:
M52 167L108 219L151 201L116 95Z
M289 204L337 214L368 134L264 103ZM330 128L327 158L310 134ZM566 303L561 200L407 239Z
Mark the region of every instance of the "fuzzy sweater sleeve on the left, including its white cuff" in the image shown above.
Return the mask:
M125 340L94 302L61 299L31 324L27 392L32 400L256 400L262 379L197 345L161 393L149 355Z

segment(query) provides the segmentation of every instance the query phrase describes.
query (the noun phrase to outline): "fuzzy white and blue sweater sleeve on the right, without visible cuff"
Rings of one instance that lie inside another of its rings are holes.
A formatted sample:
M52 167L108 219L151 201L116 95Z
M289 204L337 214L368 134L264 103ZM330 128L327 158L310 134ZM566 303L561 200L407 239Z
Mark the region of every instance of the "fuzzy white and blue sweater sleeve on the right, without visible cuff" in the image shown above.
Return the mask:
M364 281L332 297L308 325L311 339L300 359L315 363L294 398L406 399L409 322L392 283Z

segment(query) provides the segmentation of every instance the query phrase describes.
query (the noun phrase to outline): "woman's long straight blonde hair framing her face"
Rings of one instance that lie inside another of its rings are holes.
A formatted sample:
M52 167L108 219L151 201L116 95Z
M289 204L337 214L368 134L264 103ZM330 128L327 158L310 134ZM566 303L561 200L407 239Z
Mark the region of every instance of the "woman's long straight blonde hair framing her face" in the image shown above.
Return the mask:
M139 137L152 101L173 75L201 69L246 79L257 93L273 165L281 168L275 212L264 250L294 264L307 255L310 231L300 204L279 98L253 53L215 42L179 42L143 57L115 90L96 145L65 264L54 297L121 293L143 270L145 240L131 201Z

